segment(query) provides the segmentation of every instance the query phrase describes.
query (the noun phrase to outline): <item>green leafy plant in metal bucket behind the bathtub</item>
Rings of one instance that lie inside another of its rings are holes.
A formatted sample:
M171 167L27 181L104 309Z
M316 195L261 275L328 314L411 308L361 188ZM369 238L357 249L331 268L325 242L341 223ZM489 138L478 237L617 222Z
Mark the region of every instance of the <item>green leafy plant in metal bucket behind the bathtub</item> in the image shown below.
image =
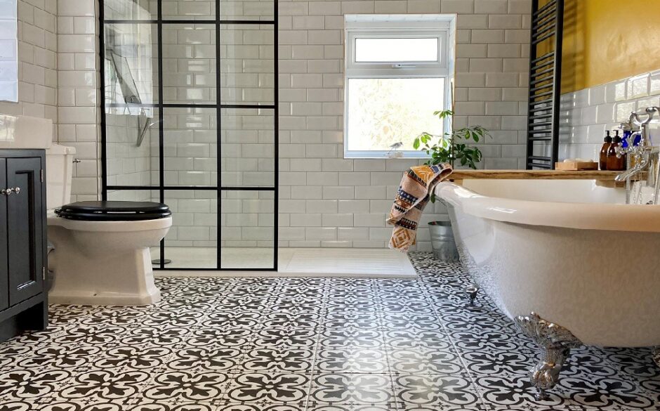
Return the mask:
M451 118L454 112L442 110L434 112L433 115L444 122L445 119ZM444 132L441 135L423 132L415 138L413 147L430 155L430 159L425 162L427 165L449 163L453 168L458 161L462 167L476 169L477 163L482 160L482 152L479 148L470 147L468 143L472 141L479 143L489 136L488 130L482 126L452 129L451 132ZM435 202L435 200L435 193L431 193L430 201ZM431 221L428 223L428 228L435 258L441 261L458 261L451 221Z

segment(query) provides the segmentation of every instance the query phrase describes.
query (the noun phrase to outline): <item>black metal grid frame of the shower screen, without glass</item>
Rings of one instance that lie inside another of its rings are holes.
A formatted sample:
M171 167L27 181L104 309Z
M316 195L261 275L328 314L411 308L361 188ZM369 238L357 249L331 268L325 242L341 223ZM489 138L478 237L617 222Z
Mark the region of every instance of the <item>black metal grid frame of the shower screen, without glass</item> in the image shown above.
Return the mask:
M164 20L163 19L163 2L162 0L157 1L157 18L155 20L105 20L105 6L104 0L99 0L99 67L100 67L100 106L101 106L101 118L100 118L100 129L101 129L101 178L102 178L102 187L101 195L102 199L107 200L108 190L158 190L159 192L159 202L165 202L165 191L166 190L210 190L216 191L217 193L217 224L218 232L216 236L216 268L168 268L165 266L165 240L161 240L159 245L159 266L154 267L155 270L194 270L194 271L277 271L277 250L278 250L278 216L279 216L279 58L278 58L278 0L273 1L273 19L272 20L223 20L220 15L220 1L215 0L215 18L213 20L195 20L195 19L182 19L182 20ZM159 122L158 122L158 142L159 142L159 185L108 185L107 184L107 130L106 130L106 108L107 107L124 107L126 104L117 104L112 103L111 105L106 105L105 103L105 26L112 24L149 24L156 25L157 27L157 50L158 50L158 103L151 104L140 104L140 105L131 105L131 107L153 107L159 110ZM215 104L195 104L195 103L164 103L163 100L163 25L213 25L216 32L216 103ZM272 105L262 105L262 104L223 104L221 103L220 98L220 27L222 25L272 25L273 30L273 103ZM197 186L197 185L165 185L164 178L164 109L166 108L209 108L216 110L216 136L217 140L217 171L218 182L216 187L213 186ZM224 187L222 185L222 168L220 167L220 162L222 159L222 142L220 140L222 129L222 109L266 109L272 110L273 112L273 132L274 132L274 141L273 141L273 185L272 187L268 186L228 186ZM272 268L223 268L222 267L222 226L220 218L222 216L222 198L221 195L225 191L264 191L273 193L273 237L272 237Z

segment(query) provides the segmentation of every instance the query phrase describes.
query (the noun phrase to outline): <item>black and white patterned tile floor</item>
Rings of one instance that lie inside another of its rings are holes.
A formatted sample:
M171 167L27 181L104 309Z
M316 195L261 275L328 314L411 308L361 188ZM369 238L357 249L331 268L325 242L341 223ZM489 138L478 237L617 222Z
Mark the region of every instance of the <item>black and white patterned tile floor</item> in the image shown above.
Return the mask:
M534 344L468 275L159 278L148 307L51 306L0 344L0 411L660 410L649 349L579 348L534 399Z

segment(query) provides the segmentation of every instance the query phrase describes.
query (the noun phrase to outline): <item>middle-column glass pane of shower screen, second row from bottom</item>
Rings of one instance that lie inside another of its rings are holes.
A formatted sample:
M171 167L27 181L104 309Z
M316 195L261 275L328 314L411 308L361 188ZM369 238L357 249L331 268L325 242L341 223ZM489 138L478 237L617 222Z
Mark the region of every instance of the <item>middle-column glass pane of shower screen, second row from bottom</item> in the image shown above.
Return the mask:
M164 112L165 185L216 186L216 109L166 108Z

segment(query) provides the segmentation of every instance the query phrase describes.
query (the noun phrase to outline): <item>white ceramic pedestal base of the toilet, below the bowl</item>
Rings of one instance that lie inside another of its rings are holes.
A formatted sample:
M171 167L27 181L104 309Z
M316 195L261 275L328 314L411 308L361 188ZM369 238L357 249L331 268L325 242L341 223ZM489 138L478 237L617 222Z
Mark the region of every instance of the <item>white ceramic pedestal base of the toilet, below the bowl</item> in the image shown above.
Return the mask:
M50 304L144 306L160 301L148 248L85 256L55 247ZM51 261L49 261L50 263Z

